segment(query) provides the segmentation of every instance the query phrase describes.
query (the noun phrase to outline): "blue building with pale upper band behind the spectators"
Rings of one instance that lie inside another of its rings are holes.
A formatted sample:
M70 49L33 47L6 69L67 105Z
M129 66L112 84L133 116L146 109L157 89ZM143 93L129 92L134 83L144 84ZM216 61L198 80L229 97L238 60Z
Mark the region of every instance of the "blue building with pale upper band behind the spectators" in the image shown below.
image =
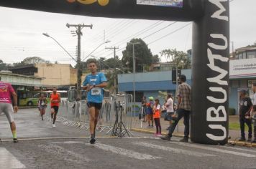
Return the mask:
M188 84L191 84L191 69L183 69L181 73L186 75ZM172 82L171 71L118 74L118 82L119 92L128 94L133 94L134 84L136 102L140 102L143 96L152 96L159 97L160 103L163 104L164 98L160 93L171 92L174 95L177 87Z

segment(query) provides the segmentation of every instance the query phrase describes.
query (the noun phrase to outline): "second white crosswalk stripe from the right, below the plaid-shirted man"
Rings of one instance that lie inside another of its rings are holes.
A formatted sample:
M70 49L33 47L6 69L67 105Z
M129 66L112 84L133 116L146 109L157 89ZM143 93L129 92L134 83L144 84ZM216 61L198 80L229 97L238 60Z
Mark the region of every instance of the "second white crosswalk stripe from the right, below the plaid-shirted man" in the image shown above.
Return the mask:
M170 151L172 153L180 153L183 155L191 155L191 156L196 156L196 157L213 157L216 155L211 155L211 154L207 154L207 153L199 153L199 152L195 152L195 151L190 151L190 150L183 150L183 149L179 149L179 148L169 148L166 146L162 146L162 145L154 145L154 144L150 144L150 143L132 143L133 145L140 145L146 148L155 148L155 149L159 149L159 150L165 150L165 151Z

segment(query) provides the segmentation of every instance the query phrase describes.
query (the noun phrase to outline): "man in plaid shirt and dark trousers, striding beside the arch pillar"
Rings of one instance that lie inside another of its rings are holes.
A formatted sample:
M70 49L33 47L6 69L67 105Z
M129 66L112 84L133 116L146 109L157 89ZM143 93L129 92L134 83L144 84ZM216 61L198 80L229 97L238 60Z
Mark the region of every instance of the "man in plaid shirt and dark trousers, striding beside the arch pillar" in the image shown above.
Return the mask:
M171 125L168 135L161 137L163 140L170 140L173 136L173 131L176 125L182 117L184 117L184 137L181 142L188 142L189 135L189 117L191 114L191 87L186 83L186 76L184 74L180 75L179 85L178 85L178 105L176 110L178 117L175 118L173 124Z

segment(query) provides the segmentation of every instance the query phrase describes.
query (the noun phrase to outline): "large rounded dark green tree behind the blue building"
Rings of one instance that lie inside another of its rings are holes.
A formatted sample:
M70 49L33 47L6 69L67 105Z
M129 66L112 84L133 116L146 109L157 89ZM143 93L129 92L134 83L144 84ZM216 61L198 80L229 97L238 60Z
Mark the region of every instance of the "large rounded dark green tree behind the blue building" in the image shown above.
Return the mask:
M122 64L126 65L127 68L133 69L133 60L132 60L132 52L134 44L134 54L136 60L136 72L142 72L143 67L150 66L152 64L153 56L150 49L147 47L147 44L142 39L132 39L130 43L127 44L126 49L122 52Z

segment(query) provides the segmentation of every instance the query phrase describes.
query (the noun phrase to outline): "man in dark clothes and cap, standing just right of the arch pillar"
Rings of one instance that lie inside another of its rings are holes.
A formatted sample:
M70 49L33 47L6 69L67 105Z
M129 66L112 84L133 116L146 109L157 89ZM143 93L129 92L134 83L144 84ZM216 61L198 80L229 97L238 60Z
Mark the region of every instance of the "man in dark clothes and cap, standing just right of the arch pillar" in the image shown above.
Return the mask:
M252 120L250 119L250 112L252 110L252 101L250 97L247 97L246 90L240 90L240 102L239 102L239 122L241 137L239 141L245 141L244 123L248 126L248 141L252 141Z

